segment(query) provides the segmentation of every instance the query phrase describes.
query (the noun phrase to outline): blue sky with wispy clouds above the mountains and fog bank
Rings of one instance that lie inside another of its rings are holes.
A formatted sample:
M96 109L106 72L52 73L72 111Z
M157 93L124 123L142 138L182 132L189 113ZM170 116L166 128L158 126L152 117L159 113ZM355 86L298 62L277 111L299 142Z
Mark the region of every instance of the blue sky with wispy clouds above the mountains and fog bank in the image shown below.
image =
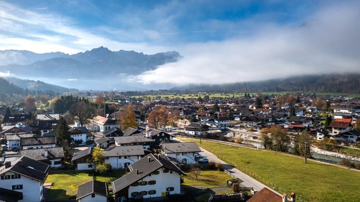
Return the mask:
M1 45L37 53L101 45L155 53L251 37L264 25L300 26L319 7L316 1L0 1L0 35L13 42ZM35 45L44 43L51 45Z

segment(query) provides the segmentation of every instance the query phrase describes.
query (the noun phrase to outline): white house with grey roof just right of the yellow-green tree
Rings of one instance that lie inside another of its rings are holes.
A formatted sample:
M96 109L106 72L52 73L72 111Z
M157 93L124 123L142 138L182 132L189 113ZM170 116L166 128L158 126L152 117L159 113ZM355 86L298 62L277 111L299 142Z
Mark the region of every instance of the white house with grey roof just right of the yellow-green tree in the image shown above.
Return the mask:
M110 146L104 150L105 162L114 169L125 169L144 155L142 145Z

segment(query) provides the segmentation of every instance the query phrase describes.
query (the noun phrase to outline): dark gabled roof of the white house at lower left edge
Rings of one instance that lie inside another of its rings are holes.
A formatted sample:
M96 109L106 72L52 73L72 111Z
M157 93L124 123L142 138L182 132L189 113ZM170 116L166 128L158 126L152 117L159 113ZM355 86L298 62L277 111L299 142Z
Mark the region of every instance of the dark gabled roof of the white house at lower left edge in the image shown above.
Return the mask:
M43 182L48 177L50 168L51 166L48 164L44 164L27 157L21 157L16 161L11 162L11 166L9 168L5 168L5 165L0 167L0 175L5 174L8 171L12 171Z

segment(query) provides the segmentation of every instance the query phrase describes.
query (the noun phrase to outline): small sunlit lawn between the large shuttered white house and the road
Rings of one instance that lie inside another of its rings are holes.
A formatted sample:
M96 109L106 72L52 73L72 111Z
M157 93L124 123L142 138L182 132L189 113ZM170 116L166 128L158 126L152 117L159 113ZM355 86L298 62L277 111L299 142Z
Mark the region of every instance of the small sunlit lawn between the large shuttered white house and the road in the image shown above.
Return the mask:
M184 177L184 185L193 186L193 185L205 185L205 187L220 187L226 186L226 180L232 179L228 174L222 171L214 171L203 169L201 170L198 179L195 175L191 174L188 170L184 170L187 176Z

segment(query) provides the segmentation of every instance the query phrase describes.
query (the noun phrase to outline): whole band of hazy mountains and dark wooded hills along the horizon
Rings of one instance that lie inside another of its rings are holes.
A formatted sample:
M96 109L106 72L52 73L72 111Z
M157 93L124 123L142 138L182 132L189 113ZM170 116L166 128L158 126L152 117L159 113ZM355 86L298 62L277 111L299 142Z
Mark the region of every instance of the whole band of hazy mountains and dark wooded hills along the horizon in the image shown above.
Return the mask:
M177 52L146 55L134 51L110 51L106 47L68 55L61 52L36 54L29 51L0 51L0 76L10 83L31 90L54 92L80 90L148 90L174 89L189 91L322 91L360 92L360 74L304 75L285 79L232 84L143 84L136 75L158 66L177 62ZM196 68L196 67L194 67ZM1 74L2 73L2 74ZM216 72L215 72L216 73ZM218 71L221 74L221 70ZM279 75L279 78L281 75ZM20 79L21 78L21 79ZM226 75L224 75L226 78ZM176 72L173 77L176 79ZM176 87L174 87L176 86Z

